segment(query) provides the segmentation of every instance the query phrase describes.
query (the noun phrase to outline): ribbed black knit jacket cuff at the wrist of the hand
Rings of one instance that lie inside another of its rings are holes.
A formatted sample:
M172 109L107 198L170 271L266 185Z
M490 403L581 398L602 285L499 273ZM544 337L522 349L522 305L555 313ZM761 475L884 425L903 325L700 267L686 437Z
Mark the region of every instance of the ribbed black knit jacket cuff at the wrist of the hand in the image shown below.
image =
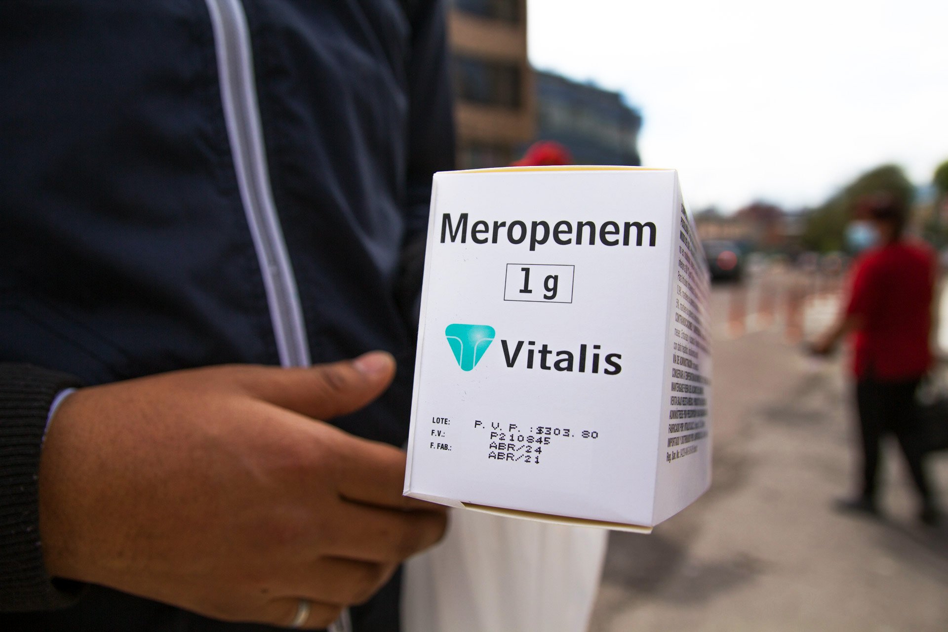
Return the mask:
M38 478L49 406L75 377L0 363L0 611L74 603L82 585L46 573L40 542Z

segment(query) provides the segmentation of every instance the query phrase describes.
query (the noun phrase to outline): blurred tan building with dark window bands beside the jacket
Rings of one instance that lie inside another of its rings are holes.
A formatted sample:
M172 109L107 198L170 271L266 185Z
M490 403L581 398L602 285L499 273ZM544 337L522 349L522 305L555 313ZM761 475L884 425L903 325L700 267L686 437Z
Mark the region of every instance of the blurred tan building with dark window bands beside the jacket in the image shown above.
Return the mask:
M448 33L458 167L509 165L536 129L526 0L452 0Z

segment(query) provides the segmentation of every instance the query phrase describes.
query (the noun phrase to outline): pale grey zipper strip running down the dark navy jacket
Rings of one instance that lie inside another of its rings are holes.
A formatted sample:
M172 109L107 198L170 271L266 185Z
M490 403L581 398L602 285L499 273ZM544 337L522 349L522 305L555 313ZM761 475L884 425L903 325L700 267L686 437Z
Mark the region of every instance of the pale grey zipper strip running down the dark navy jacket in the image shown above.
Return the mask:
M300 295L273 202L257 105L253 53L240 0L205 0L210 11L230 152L283 367L308 367L309 343Z

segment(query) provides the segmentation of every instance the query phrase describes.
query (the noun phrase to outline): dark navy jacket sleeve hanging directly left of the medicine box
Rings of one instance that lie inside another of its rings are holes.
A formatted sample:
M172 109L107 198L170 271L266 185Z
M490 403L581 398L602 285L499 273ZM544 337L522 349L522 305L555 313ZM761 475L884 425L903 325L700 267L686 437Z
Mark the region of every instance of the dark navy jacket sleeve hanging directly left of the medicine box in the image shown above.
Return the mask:
M447 53L445 3L403 3L411 24L406 235L397 301L417 325L431 204L431 176L454 169L454 99Z

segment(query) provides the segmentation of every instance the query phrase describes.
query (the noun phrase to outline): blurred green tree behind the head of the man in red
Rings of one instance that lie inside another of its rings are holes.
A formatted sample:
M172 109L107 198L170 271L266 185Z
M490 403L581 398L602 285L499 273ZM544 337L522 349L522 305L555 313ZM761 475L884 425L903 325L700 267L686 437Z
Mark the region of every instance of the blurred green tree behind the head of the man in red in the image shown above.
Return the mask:
M803 244L817 252L844 250L844 233L853 205L863 195L885 191L911 205L915 188L898 165L883 165L863 173L842 190L813 209L803 231Z

